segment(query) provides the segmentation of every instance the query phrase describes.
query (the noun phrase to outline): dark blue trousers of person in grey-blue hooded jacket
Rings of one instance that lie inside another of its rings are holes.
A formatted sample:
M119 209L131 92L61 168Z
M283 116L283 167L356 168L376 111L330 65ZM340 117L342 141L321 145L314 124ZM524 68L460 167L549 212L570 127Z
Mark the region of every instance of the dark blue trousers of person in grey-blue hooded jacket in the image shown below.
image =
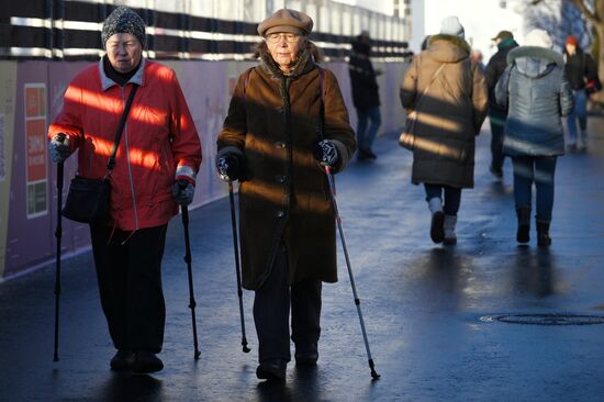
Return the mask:
M516 208L532 206L533 183L535 183L537 189L536 216L540 222L551 222L556 160L556 156L515 156L512 158Z

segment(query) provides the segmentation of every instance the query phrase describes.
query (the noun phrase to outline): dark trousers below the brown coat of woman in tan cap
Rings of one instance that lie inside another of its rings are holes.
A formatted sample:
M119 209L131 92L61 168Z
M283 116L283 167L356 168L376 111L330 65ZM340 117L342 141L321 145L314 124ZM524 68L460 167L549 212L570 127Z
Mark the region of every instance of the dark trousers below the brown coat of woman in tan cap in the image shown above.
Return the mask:
M291 339L297 347L316 344L321 335L320 280L306 280L288 284L288 256L284 246L279 248L272 272L256 290L254 298L254 323L258 335L258 359L291 360L290 354L290 303Z

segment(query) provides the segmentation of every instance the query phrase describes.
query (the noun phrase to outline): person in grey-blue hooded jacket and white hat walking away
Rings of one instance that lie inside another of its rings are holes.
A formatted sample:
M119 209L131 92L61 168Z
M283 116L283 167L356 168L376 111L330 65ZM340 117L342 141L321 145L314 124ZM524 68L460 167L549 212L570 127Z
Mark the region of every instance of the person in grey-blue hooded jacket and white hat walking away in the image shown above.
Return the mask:
M573 108L562 55L551 49L544 30L530 31L524 46L507 54L507 68L495 88L502 107L508 103L503 150L512 157L518 243L530 241L533 183L537 189L537 244L551 244L549 225L553 208L557 157L564 154L561 116Z

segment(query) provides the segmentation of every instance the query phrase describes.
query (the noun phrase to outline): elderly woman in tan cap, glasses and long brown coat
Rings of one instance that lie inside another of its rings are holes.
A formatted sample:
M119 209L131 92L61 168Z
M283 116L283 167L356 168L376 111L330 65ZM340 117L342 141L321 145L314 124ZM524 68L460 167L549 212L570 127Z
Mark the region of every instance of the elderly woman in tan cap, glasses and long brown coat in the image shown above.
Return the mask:
M258 25L260 65L237 82L216 168L239 180L243 286L255 291L259 379L284 380L289 315L297 364L318 358L322 282L337 280L334 210L322 164L355 152L337 80L316 65L311 18L291 9Z

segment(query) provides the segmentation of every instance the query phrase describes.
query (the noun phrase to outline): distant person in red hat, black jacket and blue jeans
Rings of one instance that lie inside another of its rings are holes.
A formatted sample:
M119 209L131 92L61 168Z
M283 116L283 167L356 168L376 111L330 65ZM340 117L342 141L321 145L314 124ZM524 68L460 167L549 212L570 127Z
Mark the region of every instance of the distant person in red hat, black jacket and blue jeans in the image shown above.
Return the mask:
M585 53L574 36L567 37L564 48L564 70L574 94L574 108L567 118L569 130L570 149L575 147L584 148L588 143L588 98L589 92L599 90L597 65L588 53ZM577 122L581 130L581 141L577 136Z

